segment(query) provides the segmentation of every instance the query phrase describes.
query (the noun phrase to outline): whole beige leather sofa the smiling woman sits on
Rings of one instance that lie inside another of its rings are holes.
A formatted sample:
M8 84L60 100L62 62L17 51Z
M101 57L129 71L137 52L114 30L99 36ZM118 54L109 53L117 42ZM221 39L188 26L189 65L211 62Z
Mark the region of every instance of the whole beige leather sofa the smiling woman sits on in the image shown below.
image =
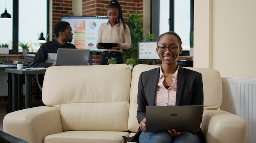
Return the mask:
M56 66L46 70L42 100L46 106L7 114L3 128L29 143L124 143L138 130L139 74L159 67L136 65ZM247 126L237 115L220 111L222 85L218 71L202 73L207 143L245 143ZM131 132L128 132L131 131Z

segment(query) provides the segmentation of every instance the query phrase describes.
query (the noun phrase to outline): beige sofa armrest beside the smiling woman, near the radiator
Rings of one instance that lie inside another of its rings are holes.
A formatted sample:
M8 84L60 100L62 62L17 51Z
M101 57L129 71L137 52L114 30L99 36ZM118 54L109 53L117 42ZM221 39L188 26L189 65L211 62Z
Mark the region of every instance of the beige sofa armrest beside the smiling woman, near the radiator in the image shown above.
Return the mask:
M207 143L245 143L245 120L221 110L204 110L201 129Z

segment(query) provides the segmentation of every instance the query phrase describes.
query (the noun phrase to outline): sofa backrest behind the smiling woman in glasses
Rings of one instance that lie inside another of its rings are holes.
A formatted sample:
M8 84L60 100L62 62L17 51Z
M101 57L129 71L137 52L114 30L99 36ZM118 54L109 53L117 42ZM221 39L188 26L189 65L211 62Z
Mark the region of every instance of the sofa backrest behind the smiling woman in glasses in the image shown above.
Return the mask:
M132 69L132 81L130 89L130 110L128 129L137 132L139 123L137 120L137 92L138 81L141 72L159 67L159 65L135 65ZM202 74L204 88L204 110L219 109L222 103L222 83L220 73L216 69L185 67Z

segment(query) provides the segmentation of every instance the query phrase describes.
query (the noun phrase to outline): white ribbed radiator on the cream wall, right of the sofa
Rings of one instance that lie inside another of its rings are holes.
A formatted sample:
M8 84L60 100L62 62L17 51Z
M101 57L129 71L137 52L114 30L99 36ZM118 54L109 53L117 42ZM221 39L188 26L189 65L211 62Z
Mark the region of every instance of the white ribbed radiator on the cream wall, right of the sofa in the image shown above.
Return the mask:
M221 110L243 118L247 124L246 143L256 143L256 78L222 78Z

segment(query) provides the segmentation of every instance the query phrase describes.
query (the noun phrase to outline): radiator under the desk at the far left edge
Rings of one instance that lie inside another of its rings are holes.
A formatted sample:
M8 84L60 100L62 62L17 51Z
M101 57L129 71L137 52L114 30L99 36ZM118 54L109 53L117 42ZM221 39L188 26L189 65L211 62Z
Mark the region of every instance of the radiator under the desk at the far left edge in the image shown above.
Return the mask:
M5 69L0 69L0 97L8 96L8 74Z

